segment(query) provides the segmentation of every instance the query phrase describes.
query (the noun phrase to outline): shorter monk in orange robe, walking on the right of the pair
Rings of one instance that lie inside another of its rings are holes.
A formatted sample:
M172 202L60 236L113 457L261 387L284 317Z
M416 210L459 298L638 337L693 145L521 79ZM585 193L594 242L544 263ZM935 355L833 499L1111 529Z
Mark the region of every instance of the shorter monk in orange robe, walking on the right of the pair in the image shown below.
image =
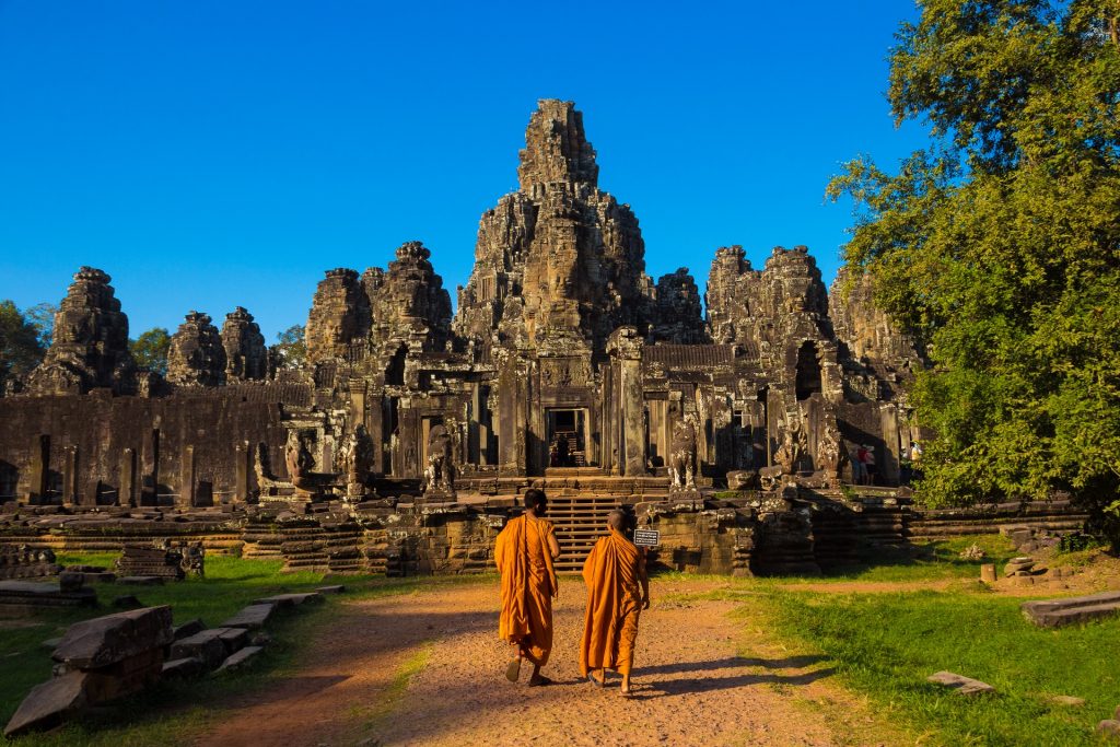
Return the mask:
M584 563L587 613L579 669L600 688L606 683L607 670L615 670L623 675L619 692L629 695L637 618L650 608L650 577L645 550L626 539L625 525L626 514L612 511L607 519L610 534L599 538Z

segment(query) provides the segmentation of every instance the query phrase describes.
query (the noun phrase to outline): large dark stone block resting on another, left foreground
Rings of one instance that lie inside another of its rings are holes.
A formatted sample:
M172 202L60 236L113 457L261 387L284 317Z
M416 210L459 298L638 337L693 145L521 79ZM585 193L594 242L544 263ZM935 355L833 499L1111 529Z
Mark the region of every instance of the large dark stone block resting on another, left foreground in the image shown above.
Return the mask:
M75 623L52 655L67 669L97 669L161 648L174 639L171 608L146 607Z

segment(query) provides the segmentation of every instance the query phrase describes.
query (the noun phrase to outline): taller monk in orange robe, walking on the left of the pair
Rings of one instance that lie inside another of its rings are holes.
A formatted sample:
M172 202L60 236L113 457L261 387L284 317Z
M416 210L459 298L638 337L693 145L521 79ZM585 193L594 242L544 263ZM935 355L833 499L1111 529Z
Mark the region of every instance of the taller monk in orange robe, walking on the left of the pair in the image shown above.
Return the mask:
M505 525L494 545L502 573L502 616L498 636L513 645L505 676L516 682L521 661L533 664L529 687L549 684L541 674L552 651L552 598L559 592L553 561L560 557L552 522L544 521L544 491L525 491L525 512Z

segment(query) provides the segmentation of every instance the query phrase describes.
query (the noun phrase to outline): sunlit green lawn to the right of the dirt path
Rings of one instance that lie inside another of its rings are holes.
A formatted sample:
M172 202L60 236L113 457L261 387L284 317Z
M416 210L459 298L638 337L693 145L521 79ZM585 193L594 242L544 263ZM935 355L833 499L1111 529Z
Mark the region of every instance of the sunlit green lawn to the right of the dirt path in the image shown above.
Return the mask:
M836 595L771 587L755 613L828 656L853 690L893 721L939 745L1095 744L1096 722L1120 701L1120 619L1045 631L1020 599L964 592ZM964 698L926 676L949 670L996 695ZM1047 695L1075 695L1080 708Z

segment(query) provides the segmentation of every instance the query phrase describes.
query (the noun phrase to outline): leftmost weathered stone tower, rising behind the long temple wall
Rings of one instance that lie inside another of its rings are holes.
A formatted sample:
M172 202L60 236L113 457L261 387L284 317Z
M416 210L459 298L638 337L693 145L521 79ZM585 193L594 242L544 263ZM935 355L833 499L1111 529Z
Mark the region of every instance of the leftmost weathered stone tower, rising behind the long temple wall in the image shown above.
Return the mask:
M55 315L50 348L30 376L36 394L84 394L109 387L136 391L137 371L129 353L129 319L113 296L111 278L82 268Z

